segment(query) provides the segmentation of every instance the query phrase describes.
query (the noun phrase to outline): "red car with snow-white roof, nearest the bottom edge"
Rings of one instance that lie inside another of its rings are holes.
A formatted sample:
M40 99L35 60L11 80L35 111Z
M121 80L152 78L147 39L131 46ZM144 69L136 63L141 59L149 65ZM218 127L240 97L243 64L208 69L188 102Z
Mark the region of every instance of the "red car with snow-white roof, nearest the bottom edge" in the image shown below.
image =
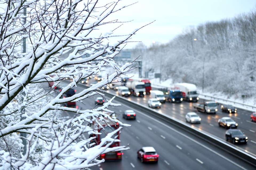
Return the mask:
M147 146L142 147L140 150L137 151L137 157L141 160L142 163L144 162L158 162L159 155L155 151L154 147Z

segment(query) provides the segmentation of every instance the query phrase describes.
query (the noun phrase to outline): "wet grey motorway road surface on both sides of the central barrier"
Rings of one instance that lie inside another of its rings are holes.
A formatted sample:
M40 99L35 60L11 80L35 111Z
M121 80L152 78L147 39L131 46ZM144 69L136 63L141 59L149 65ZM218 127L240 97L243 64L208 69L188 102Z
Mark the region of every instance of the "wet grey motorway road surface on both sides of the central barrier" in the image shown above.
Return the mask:
M78 85L77 92L83 90L83 88L83 85ZM95 106L94 99L96 97L98 96L86 99L83 101L83 104L78 103L77 105L81 109L92 109ZM141 103L147 107L149 95L145 97L131 96L127 97L127 99ZM130 150L124 151L122 161L104 162L99 167L91 167L90 169L254 169L254 167L251 167L249 164L211 143L194 136L186 130L174 126L170 122L154 116L149 116L147 113L135 110L137 114L136 120L124 120L122 118L122 113L127 109L132 109L132 105L133 104L122 104L121 107L110 108L117 114L120 114L118 117L119 120L131 125L131 127L124 127L120 135L122 141L120 145L129 144ZM186 102L181 104L165 103L162 105L161 109L154 110L182 121L185 120L185 114L187 112L195 111L192 107L192 103ZM238 113L232 116L237 117L236 120L241 120L242 117L240 116L240 113L242 113L242 110L238 109ZM69 117L74 116L74 113L66 114L68 114ZM225 141L224 135L226 129L218 127L217 120L219 117L228 116L228 114L222 112L218 112L216 115L207 115L204 113L198 114L202 118L202 123L193 124L191 127L211 133L217 138ZM246 114L249 115L250 113L243 111L245 118L247 116ZM239 124L239 129L242 131L245 131L246 128L252 129L253 126L256 126L255 124L246 121L244 121L244 124L242 124L241 121L238 121L237 123ZM240 124L242 124L243 127L242 125L240 126ZM256 141L255 133L254 137L251 137L251 134L247 134L247 132L246 135L249 138L247 145L235 145L235 147L255 153L255 143L251 142ZM233 144L230 143L230 145ZM142 164L140 160L137 159L137 150L143 146L153 146L156 149L159 154L158 164Z

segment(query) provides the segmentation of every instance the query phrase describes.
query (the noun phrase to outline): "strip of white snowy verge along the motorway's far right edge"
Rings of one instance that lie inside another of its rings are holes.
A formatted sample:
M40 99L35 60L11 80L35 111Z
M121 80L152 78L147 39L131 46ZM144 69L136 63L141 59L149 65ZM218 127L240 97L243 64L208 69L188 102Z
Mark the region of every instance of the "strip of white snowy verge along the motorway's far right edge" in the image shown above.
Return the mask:
M162 81L160 83L159 78L155 79L150 79L151 82L151 87L154 88L171 88L173 86L173 80L168 79L165 81ZM217 101L218 103L223 103L223 104L231 104L234 107L249 110L252 112L256 112L256 103L254 98L245 98L245 99L238 99L235 97L227 97L223 95L221 92L202 92L202 89L198 88L199 91L199 98L201 99L206 99L206 100L214 100ZM241 95L240 95L241 96Z

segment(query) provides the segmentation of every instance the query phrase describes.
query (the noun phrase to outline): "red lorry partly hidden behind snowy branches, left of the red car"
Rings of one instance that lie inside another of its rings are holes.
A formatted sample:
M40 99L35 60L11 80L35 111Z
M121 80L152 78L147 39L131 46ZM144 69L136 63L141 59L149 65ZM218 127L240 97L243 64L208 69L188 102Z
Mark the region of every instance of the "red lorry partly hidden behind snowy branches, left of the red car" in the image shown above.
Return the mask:
M94 139L92 139L90 141L90 146L94 147L97 146L101 143L102 138L106 137L106 135L110 132L113 132L114 130L119 129L119 124L118 122L113 122L111 120L109 120L108 118L104 118L103 120L100 120L100 118L97 118L97 122L100 124L98 125L96 123L96 121L93 121L90 126L91 128L98 132L98 134L90 134L90 137L94 137ZM99 134L101 133L101 134ZM115 133L113 135L113 137L116 137L115 139L117 139L117 142L113 142L109 147L113 148L113 147L118 147L119 145L119 135L121 134L120 131L117 131L117 133ZM106 145L104 145L106 146ZM105 160L122 160L122 155L123 152L122 151L112 151L112 152L107 152L104 154L99 155L99 159L105 159Z

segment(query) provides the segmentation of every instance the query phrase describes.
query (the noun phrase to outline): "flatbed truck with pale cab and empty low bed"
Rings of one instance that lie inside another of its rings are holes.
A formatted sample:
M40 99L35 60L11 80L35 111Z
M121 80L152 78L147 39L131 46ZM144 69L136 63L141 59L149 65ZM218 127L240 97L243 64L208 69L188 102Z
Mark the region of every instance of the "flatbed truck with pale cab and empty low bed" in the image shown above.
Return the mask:
M216 113L218 111L218 104L216 101L204 101L202 103L195 103L194 108L197 111L204 113Z

